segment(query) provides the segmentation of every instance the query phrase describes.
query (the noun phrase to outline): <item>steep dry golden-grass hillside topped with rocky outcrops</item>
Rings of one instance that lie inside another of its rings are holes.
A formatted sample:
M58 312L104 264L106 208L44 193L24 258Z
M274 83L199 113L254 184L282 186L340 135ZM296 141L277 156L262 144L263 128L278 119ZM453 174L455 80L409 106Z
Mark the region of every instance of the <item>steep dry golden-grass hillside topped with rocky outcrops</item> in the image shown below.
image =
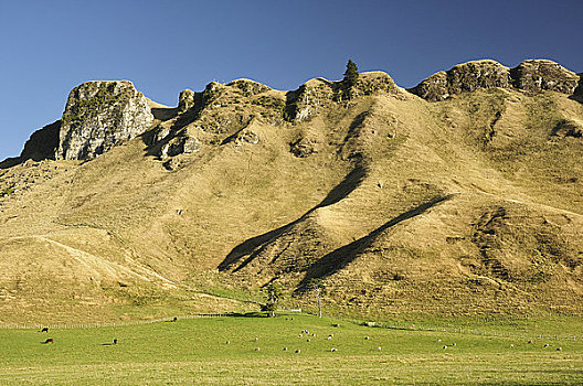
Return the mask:
M306 305L311 278L339 313L580 312L577 82L483 61L411 93L239 79L176 108L82 85L0 169L0 322L243 310L203 292L274 280Z

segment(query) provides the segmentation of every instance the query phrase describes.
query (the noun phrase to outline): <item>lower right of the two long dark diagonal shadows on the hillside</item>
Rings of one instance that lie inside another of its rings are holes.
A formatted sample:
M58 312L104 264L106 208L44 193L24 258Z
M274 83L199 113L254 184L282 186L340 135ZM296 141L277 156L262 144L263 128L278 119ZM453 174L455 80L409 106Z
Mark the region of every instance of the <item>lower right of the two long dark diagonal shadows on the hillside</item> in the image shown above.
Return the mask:
M316 261L314 265L311 265L307 269L306 277L298 286L298 289L296 292L301 292L305 290L307 283L310 279L322 279L326 278L340 269L344 268L347 265L349 265L354 258L358 256L359 253L362 253L368 247L372 245L372 243L386 229L390 227L393 227L405 219L418 216L420 214L423 214L427 210L432 208L433 206L449 200L453 196L453 194L446 195L446 196L439 196L435 197L433 200L427 201L426 203L423 203L421 205L415 206L414 208L404 212L400 214L399 216L392 218L391 221L384 223L382 226L378 227L377 229L372 230L370 234L368 234L364 237L359 238L358 240L354 240L348 245L344 245L341 248L338 248L328 255L320 258L318 261Z

